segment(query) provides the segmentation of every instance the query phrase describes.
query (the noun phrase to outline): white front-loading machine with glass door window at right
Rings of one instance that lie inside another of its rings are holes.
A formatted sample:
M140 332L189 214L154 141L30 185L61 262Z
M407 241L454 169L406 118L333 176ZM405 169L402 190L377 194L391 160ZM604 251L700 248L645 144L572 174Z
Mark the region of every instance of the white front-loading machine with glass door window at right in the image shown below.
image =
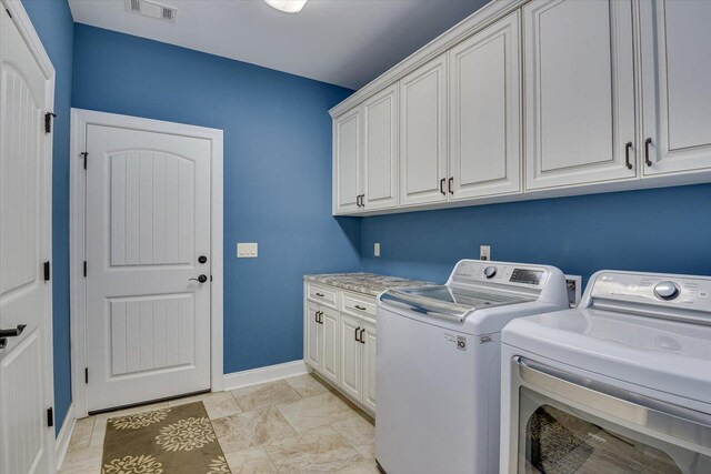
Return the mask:
M502 332L501 473L711 473L711 278L602 271Z

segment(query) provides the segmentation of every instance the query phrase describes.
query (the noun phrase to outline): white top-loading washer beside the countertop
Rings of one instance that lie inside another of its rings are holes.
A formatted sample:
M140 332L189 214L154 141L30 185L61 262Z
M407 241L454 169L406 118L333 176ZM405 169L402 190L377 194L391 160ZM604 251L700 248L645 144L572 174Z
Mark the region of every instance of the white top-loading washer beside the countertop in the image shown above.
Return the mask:
M447 284L378 297L375 457L388 474L499 464L500 331L568 307L552 266L462 260Z

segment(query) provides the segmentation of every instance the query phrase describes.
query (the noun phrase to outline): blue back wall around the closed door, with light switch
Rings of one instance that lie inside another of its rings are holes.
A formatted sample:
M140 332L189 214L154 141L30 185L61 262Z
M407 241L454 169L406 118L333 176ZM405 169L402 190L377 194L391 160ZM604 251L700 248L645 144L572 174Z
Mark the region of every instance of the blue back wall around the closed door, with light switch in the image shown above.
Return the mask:
M351 91L83 24L74 64L76 108L224 131L224 371L301 359L302 275L360 266L360 222L331 216L328 109Z

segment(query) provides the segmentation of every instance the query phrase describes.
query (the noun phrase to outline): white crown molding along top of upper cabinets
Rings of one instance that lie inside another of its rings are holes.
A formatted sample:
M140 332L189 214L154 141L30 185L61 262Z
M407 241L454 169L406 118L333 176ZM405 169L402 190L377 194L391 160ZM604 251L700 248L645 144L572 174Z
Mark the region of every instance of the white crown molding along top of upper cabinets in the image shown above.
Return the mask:
M493 0L477 10L464 20L460 21L444 33L440 34L398 64L373 79L368 84L356 91L351 97L329 110L332 118L339 117L363 100L378 93L383 88L399 81L420 65L447 52L457 43L465 40L477 31L489 27L491 23L505 17L510 12L521 8L530 0Z

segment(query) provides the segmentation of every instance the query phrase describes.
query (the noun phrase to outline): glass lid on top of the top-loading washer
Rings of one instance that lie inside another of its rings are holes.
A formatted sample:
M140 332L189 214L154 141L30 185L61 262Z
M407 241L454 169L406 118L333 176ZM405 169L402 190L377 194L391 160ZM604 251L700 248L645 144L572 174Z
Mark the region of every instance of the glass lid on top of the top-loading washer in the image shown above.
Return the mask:
M380 295L380 301L384 305L419 314L462 322L477 310L525 303L534 299L502 292L432 285L388 290Z

